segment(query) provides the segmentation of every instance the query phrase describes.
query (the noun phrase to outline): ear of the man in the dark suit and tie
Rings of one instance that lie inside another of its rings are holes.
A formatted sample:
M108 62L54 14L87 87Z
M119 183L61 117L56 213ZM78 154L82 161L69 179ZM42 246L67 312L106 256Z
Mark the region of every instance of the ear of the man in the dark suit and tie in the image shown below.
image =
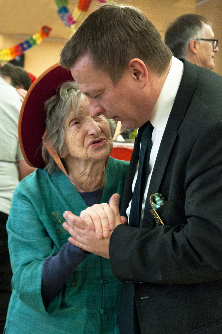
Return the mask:
M145 87L148 81L148 71L144 62L139 58L133 58L128 63L128 69L141 88Z

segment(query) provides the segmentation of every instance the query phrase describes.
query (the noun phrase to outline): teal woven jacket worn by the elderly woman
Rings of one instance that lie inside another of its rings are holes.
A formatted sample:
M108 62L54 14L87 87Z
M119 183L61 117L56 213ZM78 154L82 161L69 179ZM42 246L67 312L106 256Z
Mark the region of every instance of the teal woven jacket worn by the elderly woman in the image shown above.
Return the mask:
M109 158L102 202L121 194L128 162ZM76 215L86 203L64 173L37 169L17 186L7 222L13 271L5 334L118 334L121 283L110 260L89 255L45 308L41 296L44 261L58 254L70 234L63 212Z

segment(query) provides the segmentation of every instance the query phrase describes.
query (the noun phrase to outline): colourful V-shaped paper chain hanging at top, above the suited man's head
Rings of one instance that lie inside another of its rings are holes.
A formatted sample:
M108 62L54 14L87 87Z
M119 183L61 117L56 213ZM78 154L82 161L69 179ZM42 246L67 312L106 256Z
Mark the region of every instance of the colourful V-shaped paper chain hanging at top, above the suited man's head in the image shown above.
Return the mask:
M59 17L67 27L70 27L73 30L73 33L76 31L75 24L85 17L91 1L92 0L79 0L77 7L74 9L72 14L67 8L68 0L55 0ZM101 3L106 3L106 0L98 1Z

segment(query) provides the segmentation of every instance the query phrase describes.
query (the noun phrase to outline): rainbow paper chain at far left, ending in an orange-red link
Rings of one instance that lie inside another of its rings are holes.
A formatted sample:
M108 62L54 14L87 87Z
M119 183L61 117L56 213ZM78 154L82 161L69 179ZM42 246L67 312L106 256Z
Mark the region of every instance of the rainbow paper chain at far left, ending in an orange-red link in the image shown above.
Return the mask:
M0 50L0 61L9 61L20 56L26 50L30 49L32 46L41 43L43 38L49 36L51 28L44 25L41 30L34 34L29 39L25 40L23 43L17 44L9 49Z

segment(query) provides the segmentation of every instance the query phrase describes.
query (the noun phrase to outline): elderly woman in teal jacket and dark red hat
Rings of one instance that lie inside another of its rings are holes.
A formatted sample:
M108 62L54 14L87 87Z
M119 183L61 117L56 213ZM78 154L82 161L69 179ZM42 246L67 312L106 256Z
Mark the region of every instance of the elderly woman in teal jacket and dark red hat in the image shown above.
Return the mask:
M65 210L80 215L115 192L121 197L128 163L109 157L113 124L92 118L87 98L67 78L67 70L53 66L23 104L20 145L26 161L41 168L17 186L7 222L13 292L5 334L119 333L121 283L108 259L68 241L62 223ZM45 114L41 103L50 96ZM39 162L35 148L45 127Z

